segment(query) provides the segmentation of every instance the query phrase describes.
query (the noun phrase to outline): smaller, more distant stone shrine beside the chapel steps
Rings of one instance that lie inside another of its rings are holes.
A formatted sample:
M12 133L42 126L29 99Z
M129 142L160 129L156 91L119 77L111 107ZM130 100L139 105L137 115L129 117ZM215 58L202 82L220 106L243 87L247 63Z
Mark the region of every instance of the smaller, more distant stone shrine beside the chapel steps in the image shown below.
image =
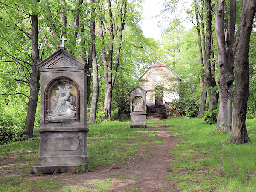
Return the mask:
M130 91L130 127L147 127L146 92L138 86Z

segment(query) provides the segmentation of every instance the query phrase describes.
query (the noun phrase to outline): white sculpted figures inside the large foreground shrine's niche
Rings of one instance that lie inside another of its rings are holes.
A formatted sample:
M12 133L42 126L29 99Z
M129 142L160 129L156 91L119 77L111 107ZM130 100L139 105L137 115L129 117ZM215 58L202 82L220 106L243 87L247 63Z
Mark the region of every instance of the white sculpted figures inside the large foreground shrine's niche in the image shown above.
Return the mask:
M75 117L76 107L71 104L71 100L69 101L71 94L70 85L64 86L64 88L61 86L57 87L56 93L51 97L50 119L66 119Z

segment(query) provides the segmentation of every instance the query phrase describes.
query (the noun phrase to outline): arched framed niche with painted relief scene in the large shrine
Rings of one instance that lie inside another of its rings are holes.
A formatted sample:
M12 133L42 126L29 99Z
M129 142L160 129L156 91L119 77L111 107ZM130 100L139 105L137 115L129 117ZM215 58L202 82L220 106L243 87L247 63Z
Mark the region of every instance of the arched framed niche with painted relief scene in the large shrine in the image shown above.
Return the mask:
M79 121L79 92L74 81L65 77L53 80L45 97L45 122Z

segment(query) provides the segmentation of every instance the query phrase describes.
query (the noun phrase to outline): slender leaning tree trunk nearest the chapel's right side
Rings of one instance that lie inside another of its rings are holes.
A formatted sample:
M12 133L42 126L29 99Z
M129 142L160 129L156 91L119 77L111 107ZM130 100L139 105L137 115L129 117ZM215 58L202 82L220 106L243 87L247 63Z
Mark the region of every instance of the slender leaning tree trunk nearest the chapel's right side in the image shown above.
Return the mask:
M202 52L202 43L201 43L201 34L200 34L200 29L199 29L199 19L198 19L198 8L196 6L196 1L195 1L195 17L196 17L196 29L198 33L198 46L199 46L199 54L200 54L200 64L202 66L201 70L201 81L202 81L202 90L201 90L201 100L200 100L200 106L199 106L199 111L198 111L198 118L202 118L204 115L204 110L205 110L205 103L206 103L206 96L207 93L205 91L205 77L204 77L204 60L203 60L203 52Z

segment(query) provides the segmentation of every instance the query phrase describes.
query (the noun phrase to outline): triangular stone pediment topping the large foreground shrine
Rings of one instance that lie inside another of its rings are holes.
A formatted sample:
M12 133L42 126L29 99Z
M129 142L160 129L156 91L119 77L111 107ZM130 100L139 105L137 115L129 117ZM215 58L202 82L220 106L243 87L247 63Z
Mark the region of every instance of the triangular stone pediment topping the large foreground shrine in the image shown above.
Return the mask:
M89 69L88 65L83 60L77 58L75 55L72 55L64 49L59 49L48 58L44 59L44 61L38 63L39 70L66 69L69 67L83 67L86 70Z

